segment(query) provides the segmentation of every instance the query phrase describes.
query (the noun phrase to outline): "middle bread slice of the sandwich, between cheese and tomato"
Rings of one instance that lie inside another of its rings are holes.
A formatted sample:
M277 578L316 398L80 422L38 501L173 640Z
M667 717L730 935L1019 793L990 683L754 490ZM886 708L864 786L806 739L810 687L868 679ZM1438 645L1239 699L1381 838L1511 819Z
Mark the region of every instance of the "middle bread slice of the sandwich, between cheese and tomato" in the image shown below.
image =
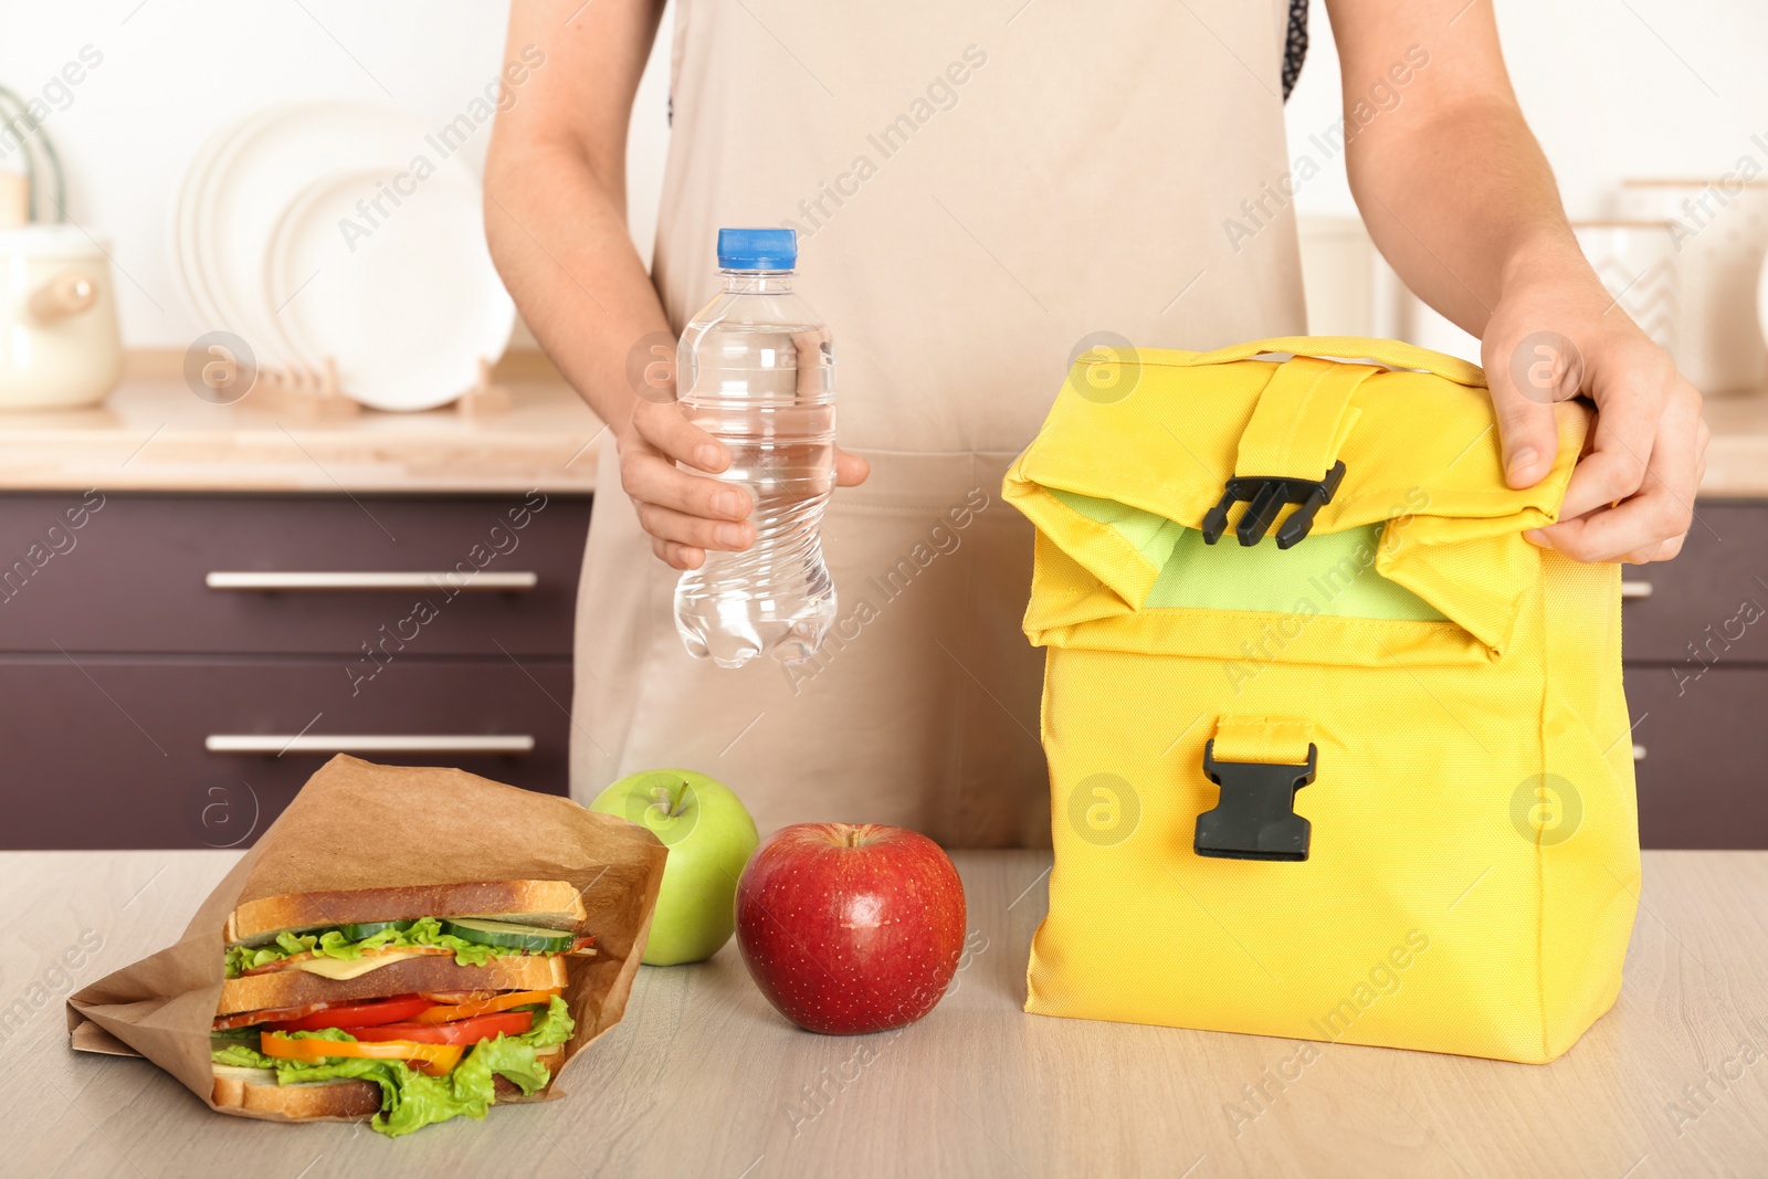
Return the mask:
M306 970L248 974L221 985L216 1015L301 1008L313 1002L347 1002L460 990L548 990L566 985L564 958L506 955L483 967L456 965L453 955L424 955L370 970L354 979L327 979Z

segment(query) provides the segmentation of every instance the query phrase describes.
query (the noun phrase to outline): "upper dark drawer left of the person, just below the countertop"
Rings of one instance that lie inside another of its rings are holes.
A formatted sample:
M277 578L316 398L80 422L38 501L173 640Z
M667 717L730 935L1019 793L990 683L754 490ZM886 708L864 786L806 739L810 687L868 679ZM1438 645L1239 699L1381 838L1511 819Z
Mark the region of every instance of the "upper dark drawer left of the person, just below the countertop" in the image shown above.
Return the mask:
M587 498L541 493L7 495L0 652L568 656L587 530ZM460 589L476 571L532 589ZM265 592L216 573L437 578Z

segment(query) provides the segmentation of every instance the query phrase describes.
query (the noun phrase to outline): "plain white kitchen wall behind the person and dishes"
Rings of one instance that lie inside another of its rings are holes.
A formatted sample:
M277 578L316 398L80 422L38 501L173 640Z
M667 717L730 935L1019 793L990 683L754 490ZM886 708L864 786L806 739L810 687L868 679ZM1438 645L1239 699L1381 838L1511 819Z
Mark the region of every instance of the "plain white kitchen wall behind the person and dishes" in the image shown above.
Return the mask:
M1501 0L1497 11L1522 106L1574 216L1607 212L1621 177L1717 175L1761 154L1750 134L1768 138L1763 0ZM48 129L67 161L74 217L111 242L127 276L118 286L129 343L177 348L207 325L179 304L166 203L203 138L292 97L391 103L446 122L495 72L506 12L484 0L0 0L0 81L41 94L83 46L103 53ZM633 115L631 219L647 256L668 138L667 21ZM1294 143L1338 118L1321 0L1312 35L1289 104ZM1430 49L1453 51L1453 30ZM470 152L483 159L483 131ZM1324 163L1298 210L1354 212L1342 157Z

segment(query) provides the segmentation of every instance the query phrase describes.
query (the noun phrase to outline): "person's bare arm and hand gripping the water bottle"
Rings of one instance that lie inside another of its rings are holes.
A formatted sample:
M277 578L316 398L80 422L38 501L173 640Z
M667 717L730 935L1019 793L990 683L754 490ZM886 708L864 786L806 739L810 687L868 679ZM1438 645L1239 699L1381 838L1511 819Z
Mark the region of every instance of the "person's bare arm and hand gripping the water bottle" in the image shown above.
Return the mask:
M626 126L661 11L663 0L511 4L506 65L536 49L545 60L497 117L484 230L546 355L613 431L651 548L691 569L707 548L746 548L755 529L741 488L675 467L718 472L730 456L674 405L675 338L626 228ZM628 377L635 350L651 382Z

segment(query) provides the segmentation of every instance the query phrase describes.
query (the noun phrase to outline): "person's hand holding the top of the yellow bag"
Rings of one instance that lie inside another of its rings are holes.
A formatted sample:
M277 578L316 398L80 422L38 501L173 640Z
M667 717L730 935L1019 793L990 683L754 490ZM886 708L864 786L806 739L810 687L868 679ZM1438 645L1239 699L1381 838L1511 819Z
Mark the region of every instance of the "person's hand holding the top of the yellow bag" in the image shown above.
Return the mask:
M1535 486L1552 468L1554 401L1582 391L1597 422L1559 523L1526 537L1577 560L1669 560L1706 474L1701 394L1581 256L1542 274L1505 283L1482 354L1510 486Z

